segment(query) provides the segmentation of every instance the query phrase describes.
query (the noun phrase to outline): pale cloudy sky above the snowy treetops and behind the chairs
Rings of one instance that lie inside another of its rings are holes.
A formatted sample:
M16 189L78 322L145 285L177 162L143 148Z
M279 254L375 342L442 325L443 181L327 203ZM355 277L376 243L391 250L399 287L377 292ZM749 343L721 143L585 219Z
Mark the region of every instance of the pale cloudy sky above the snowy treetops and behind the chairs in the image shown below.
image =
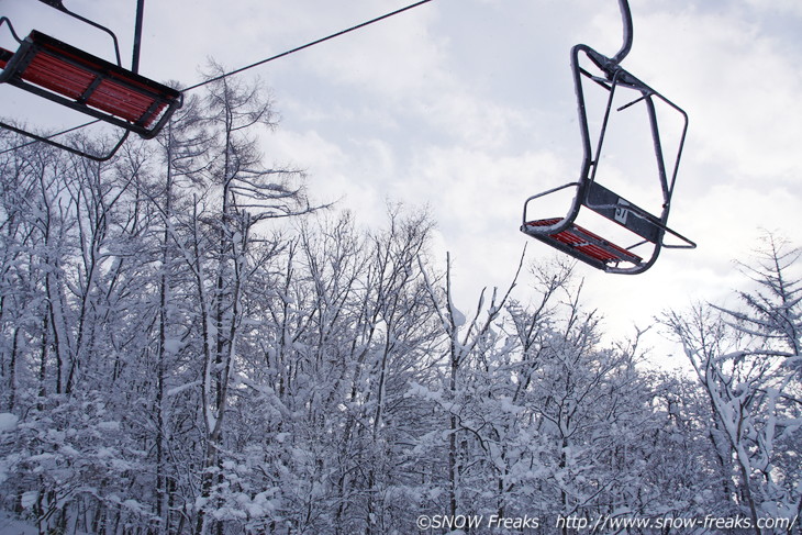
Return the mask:
M129 60L134 0L65 3L112 26ZM408 3L148 0L141 71L189 86L207 57L240 67ZM588 304L619 333L736 288L733 259L759 245L761 229L802 243L802 2L631 7L634 44L623 66L690 116L669 225L699 247L666 249L634 277L578 267ZM0 14L20 33L36 24L108 57L107 42L38 2L0 0ZM444 261L450 252L456 304L472 310L482 287L509 282L525 243L530 259L557 255L519 232L523 201L579 174L570 47L612 55L621 35L616 0L434 0L243 77L270 88L282 118L265 141L268 157L308 169L316 199L342 198L364 225L383 223L388 199L431 207L435 254ZM0 43L11 47L4 35ZM0 113L37 119L38 105L0 89ZM632 177L637 155L610 158L605 185L617 193L657 188Z

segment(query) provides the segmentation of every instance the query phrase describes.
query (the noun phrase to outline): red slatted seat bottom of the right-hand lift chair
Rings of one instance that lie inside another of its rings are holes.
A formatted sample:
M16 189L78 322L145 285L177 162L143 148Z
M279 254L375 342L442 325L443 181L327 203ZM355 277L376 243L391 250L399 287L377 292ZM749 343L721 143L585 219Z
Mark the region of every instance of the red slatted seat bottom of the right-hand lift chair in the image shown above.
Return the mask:
M611 264L617 265L622 261L635 265L643 263L643 258L639 256L576 223L571 223L564 231L554 234L537 231L537 229L552 226L560 221L560 218L530 221L521 226L521 231L599 269L605 269Z

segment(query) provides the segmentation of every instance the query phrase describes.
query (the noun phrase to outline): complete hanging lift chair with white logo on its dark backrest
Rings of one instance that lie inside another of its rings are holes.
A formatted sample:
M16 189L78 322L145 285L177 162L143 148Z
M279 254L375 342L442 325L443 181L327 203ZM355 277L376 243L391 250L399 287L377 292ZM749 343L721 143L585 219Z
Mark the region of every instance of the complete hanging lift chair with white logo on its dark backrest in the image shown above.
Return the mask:
M671 194L673 192L679 159L682 154L682 146L688 130L688 115L676 104L619 65L632 46L632 16L630 14L630 8L626 0L619 0L619 3L621 5L622 18L624 19L624 46L615 56L609 58L582 44L576 45L571 49L571 69L578 101L579 124L583 148L579 180L530 197L524 203L521 231L605 272L635 275L647 270L655 264L661 247L695 247L693 242L667 226ZM589 59L598 69L597 74L592 74L589 70L590 67L586 68L580 64L582 57L584 57L586 64ZM609 93L595 148L591 147L583 82L600 86ZM619 108L616 110L617 112L624 111L638 102L643 102L646 108L657 159L657 178L662 194L662 210L658 215L647 212L595 181L604 134L611 120L613 98L619 88L632 89L636 93L639 93L639 97ZM670 170L666 168L666 159L662 154L662 143L655 107L656 101L667 104L668 109L676 112L682 121L678 152ZM570 209L565 216L538 220L530 218L530 203L533 200L569 188L575 189L575 196ZM635 242L627 245L617 245L610 238L602 237L578 225L576 220L582 208L589 209L626 229L628 232L622 234L626 236L632 235ZM673 236L670 243L666 242L667 235ZM645 253L642 252L644 247L646 248Z

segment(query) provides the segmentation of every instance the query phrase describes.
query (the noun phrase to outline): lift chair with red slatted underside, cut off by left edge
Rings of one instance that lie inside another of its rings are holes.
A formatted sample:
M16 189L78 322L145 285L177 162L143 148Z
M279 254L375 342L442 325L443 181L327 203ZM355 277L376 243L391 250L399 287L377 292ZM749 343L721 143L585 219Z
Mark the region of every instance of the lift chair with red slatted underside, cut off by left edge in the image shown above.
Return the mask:
M0 122L0 126L98 161L111 158L130 132L146 140L156 136L181 107L181 92L123 68L116 36L111 30L68 11L60 0L45 3L111 35L116 65L35 30L21 40L11 21L2 16L0 27L8 25L19 48L13 53L0 48L0 83L10 83L119 126L123 134L110 152L96 155L14 125Z

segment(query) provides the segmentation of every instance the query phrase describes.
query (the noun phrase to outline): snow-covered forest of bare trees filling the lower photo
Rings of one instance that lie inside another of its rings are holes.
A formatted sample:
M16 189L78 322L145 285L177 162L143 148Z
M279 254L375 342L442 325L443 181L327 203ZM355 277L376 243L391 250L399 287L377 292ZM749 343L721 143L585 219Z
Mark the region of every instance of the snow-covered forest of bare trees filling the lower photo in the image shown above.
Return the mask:
M48 534L800 532L797 245L767 234L732 302L656 319L690 370L659 371L642 333L605 341L569 263L522 258L458 310L424 210L360 227L261 153L277 115L259 87L204 91L105 163L1 134L7 517ZM453 525L477 515L538 521Z

